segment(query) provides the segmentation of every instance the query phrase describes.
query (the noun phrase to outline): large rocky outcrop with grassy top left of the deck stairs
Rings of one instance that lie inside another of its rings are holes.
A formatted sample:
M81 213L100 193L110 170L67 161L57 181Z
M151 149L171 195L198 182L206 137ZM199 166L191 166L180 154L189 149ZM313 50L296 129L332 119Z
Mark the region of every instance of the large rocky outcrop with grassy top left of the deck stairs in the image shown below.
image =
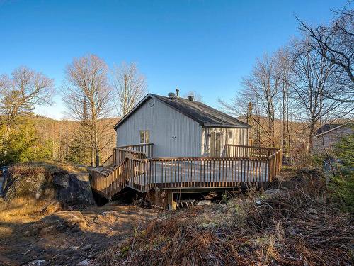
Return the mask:
M52 165L14 165L4 180L3 197L6 202L16 198L48 201L49 211L76 209L95 205L89 173L69 173Z

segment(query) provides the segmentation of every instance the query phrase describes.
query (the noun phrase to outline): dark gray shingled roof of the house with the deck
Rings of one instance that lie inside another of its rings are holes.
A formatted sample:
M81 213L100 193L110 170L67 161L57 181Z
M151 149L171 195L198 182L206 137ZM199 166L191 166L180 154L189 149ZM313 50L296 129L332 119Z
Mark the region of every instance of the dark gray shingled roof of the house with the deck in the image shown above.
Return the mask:
M222 111L214 109L206 104L201 103L200 101L190 101L189 99L184 99L181 97L175 97L173 99L169 99L169 97L160 96L156 94L147 94L147 96L142 99L142 101L135 106L127 115L125 115L117 124L115 124L114 128L117 128L120 123L125 121L132 113L135 112L144 104L147 99L153 98L161 101L162 103L170 106L171 108L183 113L183 115L188 116L194 121L198 122L201 126L207 127L215 127L215 128L249 128L249 124L239 121L232 116L229 116Z

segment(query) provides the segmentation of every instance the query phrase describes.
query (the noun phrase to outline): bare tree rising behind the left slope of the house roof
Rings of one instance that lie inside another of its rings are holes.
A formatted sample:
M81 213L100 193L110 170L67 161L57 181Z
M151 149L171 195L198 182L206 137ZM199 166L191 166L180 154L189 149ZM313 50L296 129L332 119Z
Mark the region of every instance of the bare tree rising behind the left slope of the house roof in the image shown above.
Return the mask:
M113 91L118 115L125 116L147 92L145 77L137 65L125 64L113 70Z

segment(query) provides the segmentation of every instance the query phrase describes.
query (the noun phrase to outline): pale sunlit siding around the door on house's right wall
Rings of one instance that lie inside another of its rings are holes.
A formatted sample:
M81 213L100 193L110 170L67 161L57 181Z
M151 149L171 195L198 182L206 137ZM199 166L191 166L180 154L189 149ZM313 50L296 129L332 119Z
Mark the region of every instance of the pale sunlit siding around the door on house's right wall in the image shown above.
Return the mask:
M229 132L232 132L232 139L229 138ZM249 131L248 128L202 128L202 156L210 155L210 137L212 132L221 132L221 154L225 144L248 145Z

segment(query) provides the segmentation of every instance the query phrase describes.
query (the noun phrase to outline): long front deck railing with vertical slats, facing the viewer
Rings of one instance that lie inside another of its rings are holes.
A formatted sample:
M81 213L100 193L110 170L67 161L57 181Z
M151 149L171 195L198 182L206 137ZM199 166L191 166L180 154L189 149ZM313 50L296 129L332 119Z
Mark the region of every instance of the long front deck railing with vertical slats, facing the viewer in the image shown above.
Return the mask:
M127 185L141 192L149 188L238 187L269 181L268 158L188 157L126 159Z

